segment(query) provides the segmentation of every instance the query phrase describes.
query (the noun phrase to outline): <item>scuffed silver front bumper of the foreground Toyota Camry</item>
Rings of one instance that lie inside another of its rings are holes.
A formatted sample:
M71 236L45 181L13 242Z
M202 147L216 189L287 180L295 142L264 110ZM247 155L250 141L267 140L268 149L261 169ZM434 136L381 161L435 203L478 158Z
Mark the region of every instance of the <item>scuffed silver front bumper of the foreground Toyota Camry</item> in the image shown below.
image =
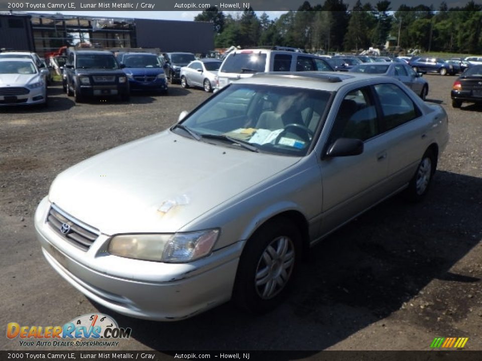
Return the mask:
M87 297L118 313L171 321L191 317L231 297L242 243L185 264L128 259L110 255L109 236L100 234L80 250L53 231L45 220L44 198L35 214L35 229L48 263Z

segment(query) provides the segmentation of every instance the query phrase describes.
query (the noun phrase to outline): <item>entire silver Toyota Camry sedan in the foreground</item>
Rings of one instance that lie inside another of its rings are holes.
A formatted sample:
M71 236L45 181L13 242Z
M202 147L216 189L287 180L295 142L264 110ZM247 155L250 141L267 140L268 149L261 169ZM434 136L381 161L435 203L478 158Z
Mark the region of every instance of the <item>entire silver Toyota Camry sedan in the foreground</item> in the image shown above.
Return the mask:
M35 213L54 270L132 317L272 309L310 246L422 200L448 141L440 105L356 73L259 73L179 119L64 170Z

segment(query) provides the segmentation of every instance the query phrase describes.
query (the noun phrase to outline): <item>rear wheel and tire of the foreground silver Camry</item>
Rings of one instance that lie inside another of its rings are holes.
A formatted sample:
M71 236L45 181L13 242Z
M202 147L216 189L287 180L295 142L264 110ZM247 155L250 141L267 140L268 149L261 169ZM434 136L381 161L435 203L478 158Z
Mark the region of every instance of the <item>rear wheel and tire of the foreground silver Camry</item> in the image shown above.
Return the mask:
M425 198L432 183L436 167L437 158L431 149L427 149L407 188L407 195L410 201L420 202Z

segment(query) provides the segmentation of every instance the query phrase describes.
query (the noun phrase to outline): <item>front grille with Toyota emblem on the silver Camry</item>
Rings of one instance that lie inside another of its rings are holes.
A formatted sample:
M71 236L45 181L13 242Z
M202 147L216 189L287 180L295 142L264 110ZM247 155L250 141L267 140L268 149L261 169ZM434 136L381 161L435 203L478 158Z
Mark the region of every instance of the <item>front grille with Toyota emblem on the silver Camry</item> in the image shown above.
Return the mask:
M63 239L74 246L87 251L97 239L100 232L92 227L82 224L73 217L52 205L47 217L47 224ZM65 232L61 232L61 229Z

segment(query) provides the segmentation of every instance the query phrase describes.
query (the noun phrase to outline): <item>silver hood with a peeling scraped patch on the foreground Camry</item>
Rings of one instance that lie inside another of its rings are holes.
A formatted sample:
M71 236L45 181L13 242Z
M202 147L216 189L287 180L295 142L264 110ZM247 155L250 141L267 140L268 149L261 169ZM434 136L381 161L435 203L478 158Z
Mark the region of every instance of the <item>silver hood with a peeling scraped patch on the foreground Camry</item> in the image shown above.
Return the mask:
M68 168L49 200L107 235L176 232L298 160L166 130Z

